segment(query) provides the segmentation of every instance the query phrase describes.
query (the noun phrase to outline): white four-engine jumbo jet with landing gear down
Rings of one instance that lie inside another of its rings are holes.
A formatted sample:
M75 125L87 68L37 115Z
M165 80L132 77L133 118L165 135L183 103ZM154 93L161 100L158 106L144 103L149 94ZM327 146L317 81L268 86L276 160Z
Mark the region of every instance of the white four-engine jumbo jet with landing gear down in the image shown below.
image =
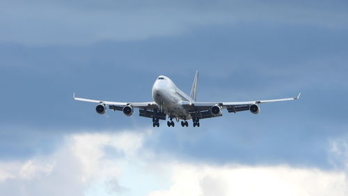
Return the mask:
M272 100L252 100L242 102L198 102L198 70L193 79L190 96L181 91L174 82L164 75L159 75L152 86L152 99L150 102L113 102L105 100L92 100L87 98L78 98L73 94L74 100L97 103L95 110L98 114L105 114L106 107L109 110L122 111L126 116L132 116L134 108L139 109L139 116L152 118L152 126L159 127L159 120L166 120L167 126L174 127L175 123L181 121L181 126L188 127L187 120L192 119L193 127L200 126L200 119L222 116L223 109L227 112L241 112L249 110L253 114L260 112L261 103L273 103L286 100L297 100L301 93L294 98L280 98Z

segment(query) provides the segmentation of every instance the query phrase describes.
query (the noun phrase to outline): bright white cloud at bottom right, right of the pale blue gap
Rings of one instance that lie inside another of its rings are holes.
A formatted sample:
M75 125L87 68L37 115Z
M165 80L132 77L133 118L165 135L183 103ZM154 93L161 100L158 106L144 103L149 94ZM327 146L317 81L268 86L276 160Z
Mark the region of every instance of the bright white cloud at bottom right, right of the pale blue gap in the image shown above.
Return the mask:
M175 165L173 186L148 196L169 195L347 195L345 172L288 166L214 167Z

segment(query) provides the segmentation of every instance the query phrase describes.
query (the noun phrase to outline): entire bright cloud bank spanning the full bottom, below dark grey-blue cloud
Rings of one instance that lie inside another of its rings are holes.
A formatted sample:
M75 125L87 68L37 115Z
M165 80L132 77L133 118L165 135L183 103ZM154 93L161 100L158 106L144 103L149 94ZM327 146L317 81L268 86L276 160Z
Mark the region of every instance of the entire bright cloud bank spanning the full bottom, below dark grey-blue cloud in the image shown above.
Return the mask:
M189 163L147 149L144 144L152 136L152 130L66 135L52 154L0 162L0 192L35 196L348 194L344 169ZM333 144L333 151L340 155L344 149ZM340 161L347 163L346 157Z

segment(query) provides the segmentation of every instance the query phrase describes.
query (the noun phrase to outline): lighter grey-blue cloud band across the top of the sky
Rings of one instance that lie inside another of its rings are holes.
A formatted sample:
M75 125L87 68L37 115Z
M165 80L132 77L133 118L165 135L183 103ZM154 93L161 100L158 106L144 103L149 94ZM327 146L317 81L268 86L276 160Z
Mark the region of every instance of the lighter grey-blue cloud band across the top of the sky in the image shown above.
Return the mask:
M317 1L4 1L0 3L3 19L0 40L29 45L79 45L100 40L177 36L197 27L241 22L285 22L340 29L347 26L348 17L340 4L340 1L329 6Z

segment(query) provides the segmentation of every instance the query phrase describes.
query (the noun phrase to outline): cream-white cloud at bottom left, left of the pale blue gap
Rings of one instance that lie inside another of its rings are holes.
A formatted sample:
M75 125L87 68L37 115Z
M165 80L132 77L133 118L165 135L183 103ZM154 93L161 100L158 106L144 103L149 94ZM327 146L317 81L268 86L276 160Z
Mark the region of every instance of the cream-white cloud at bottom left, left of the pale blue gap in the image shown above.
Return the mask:
M90 186L102 182L110 193L127 192L116 178L122 175L122 165L133 159L146 133L69 135L50 155L3 161L0 191L6 195L85 195ZM109 157L104 146L113 146L125 157Z

